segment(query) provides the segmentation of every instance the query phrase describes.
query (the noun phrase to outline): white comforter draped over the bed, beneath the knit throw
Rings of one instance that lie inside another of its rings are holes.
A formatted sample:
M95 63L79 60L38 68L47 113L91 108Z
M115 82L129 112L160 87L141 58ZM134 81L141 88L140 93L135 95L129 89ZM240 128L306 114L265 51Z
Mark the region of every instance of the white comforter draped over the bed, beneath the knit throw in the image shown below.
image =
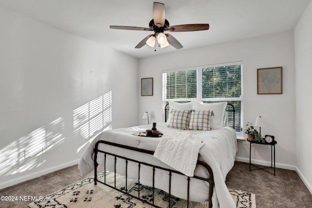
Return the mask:
M81 176L84 177L86 174L94 170L94 147L98 140L106 140L145 150L155 151L160 138L133 135L133 133L145 132L146 129L151 129L151 125L109 130L100 133L92 141L79 161L78 168L80 170ZM165 123L158 123L157 130L164 134L175 131L185 131L168 128ZM202 148L199 150L199 160L206 162L214 172L215 188L213 195L213 207L236 208L231 194L229 193L225 184L226 175L234 165L235 154L237 151L236 134L234 130L230 127L224 127L219 130L191 132L196 134L204 142ZM101 148L102 147L99 146L99 149ZM131 154L129 152L130 151L119 151L119 155L129 157L129 154ZM151 160L148 157L142 157L140 154L137 155L137 158L135 156L132 158L143 159L142 162L149 162L149 160ZM144 161L144 159L146 161ZM165 165L163 164L162 166ZM200 174L203 174L198 171L196 172L196 170L195 175L200 176Z

